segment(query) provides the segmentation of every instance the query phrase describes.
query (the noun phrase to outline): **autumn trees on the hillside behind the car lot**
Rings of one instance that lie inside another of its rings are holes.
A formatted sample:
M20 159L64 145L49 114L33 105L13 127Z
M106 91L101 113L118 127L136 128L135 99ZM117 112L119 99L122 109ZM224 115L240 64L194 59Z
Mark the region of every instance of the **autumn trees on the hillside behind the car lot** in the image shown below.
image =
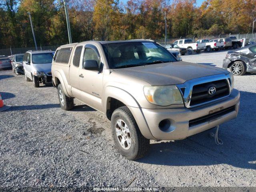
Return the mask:
M73 42L252 32L256 0L66 0ZM0 48L68 43L62 0L0 0ZM256 24L255 24L256 28ZM256 31L256 30L255 30Z

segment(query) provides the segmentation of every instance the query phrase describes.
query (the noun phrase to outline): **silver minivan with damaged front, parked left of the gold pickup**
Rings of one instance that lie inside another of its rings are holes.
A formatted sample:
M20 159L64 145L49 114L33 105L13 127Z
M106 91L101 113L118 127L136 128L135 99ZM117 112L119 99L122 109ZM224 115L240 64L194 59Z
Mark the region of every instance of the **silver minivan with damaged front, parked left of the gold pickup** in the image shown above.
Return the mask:
M23 57L26 81L33 81L34 87L40 83L52 84L52 58L54 51L27 51Z

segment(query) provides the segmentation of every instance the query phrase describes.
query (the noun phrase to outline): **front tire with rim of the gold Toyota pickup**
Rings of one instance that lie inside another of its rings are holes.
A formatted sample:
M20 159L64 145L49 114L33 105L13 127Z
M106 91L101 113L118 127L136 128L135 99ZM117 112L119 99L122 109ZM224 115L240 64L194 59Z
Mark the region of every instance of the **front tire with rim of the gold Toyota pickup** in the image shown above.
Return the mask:
M142 158L149 148L145 138L127 106L114 110L111 117L112 138L116 148L129 160Z

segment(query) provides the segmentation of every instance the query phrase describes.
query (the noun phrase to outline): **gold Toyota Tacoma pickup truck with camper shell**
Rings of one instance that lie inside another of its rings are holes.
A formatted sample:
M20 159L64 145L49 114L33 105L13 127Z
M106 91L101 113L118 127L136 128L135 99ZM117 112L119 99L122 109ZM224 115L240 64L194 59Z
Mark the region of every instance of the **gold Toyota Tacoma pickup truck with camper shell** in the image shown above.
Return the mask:
M130 160L152 140L181 140L236 118L232 73L176 60L152 40L60 46L52 62L60 106L74 98L106 114L116 148Z

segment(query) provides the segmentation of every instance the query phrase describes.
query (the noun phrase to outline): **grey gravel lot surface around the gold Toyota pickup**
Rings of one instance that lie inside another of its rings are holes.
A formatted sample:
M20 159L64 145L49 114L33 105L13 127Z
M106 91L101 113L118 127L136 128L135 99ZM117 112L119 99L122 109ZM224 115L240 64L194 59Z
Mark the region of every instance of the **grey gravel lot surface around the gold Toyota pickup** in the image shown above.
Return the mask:
M182 56L222 66L226 51ZM0 72L0 188L111 186L256 186L256 75L235 77L238 118L220 126L217 146L209 130L180 141L151 141L138 161L114 148L104 114L75 100L61 110L56 88L34 88L24 76Z

